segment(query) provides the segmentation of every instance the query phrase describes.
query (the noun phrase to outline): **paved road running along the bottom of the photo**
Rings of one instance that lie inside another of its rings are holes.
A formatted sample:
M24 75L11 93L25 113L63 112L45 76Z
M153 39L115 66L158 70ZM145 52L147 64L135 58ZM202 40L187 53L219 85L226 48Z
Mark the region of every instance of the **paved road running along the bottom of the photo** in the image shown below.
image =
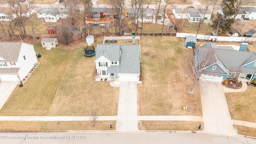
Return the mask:
M255 144L255 139L203 133L36 132L0 133L0 144Z

